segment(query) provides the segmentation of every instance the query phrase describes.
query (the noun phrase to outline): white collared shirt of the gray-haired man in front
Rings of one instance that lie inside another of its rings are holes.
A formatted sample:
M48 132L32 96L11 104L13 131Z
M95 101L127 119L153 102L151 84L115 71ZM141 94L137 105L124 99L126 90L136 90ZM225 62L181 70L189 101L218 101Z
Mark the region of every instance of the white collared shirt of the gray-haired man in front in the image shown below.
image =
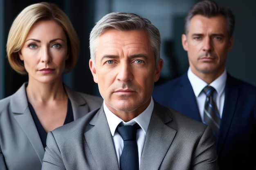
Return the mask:
M140 165L142 149L145 143L146 134L148 131L148 125L153 112L153 108L154 108L154 102L151 96L150 104L141 114L139 114L137 117L135 117L134 119L128 122L124 122L122 119L117 117L114 113L112 113L106 106L105 102L103 102L103 109L107 117L108 126L110 128L112 139L114 141L118 163L120 161L120 156L124 148L124 141L122 137L119 135L119 133L116 131L117 126L121 122L123 122L124 125L133 125L136 122L141 127L139 130L137 130L137 146L138 146L139 165ZM119 166L120 166L120 163L119 163Z

